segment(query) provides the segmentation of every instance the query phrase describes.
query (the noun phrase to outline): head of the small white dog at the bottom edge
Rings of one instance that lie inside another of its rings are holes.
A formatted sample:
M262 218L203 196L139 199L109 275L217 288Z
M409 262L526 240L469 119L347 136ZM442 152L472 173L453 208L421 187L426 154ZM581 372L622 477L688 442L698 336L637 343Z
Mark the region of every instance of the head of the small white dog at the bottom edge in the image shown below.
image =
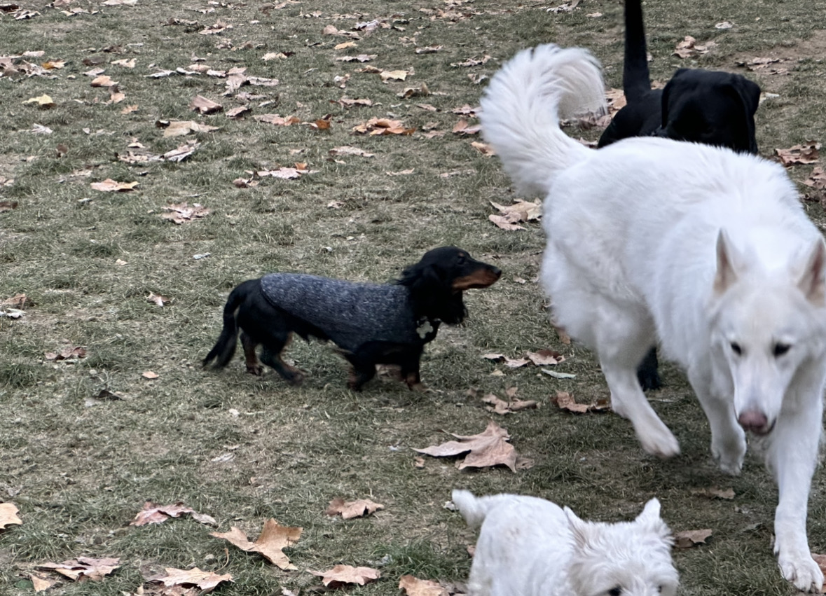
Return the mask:
M565 508L574 549L568 578L576 596L674 596L671 532L651 499L633 522L586 522Z

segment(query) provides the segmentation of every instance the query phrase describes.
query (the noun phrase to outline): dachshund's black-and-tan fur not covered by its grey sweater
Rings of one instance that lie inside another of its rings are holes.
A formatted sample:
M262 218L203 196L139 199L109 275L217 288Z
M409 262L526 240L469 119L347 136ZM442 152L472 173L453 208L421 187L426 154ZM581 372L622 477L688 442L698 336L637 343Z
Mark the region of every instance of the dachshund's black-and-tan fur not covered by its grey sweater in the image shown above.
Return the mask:
M348 287L370 286L373 292L378 292L378 296L381 296L381 288L386 288L388 296L391 291L397 296L398 290L391 289L392 286L406 288L406 293L402 297L403 305L397 313L402 324L397 330L396 341L387 341L386 336L382 336L381 339L371 338L369 317L349 321L358 324L360 329L354 348L345 349L339 346L340 352L352 365L349 387L360 390L364 383L375 376L377 364L387 364L400 367L401 380L411 389L419 389L420 357L425 344L436 337L439 324L461 323L467 315L463 291L491 286L500 276L499 268L471 258L467 251L455 247L442 247L425 253L419 263L407 267L401 273L401 278L392 285L358 285L316 278L316 282L320 282L322 288L328 285L330 291L335 291L335 287L340 288L344 283ZM301 283L301 277L283 274L281 279L287 284ZM263 370L256 356L256 348L260 344L263 346L261 362L297 385L303 381L304 375L283 362L281 357L282 351L292 338L292 333L297 333L304 339L314 337L326 341L331 339L331 333L338 333L331 329L330 321L348 315L342 312L325 312L315 319L306 315L299 318L286 310L289 305L279 305L278 297L268 298L262 289L261 279L244 281L230 292L224 307L224 326L221 335L204 358L203 366L206 367L213 360L215 367L224 367L230 362L235 354L235 344L240 333L248 372L254 375L262 374ZM319 301L323 303L323 296ZM313 308L314 305L302 306L305 313ZM413 333L412 338L411 328L417 332ZM387 329L382 333L387 333Z

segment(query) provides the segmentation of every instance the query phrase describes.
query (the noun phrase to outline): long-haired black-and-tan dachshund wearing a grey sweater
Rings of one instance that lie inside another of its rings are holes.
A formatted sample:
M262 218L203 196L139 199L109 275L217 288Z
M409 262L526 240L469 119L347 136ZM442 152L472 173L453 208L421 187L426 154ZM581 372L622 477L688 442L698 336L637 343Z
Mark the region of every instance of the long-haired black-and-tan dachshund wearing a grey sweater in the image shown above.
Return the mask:
M501 271L452 246L434 248L407 267L392 284L354 283L304 275L271 273L244 281L230 292L224 328L204 358L223 367L235 354L239 329L247 371L260 375L261 362L297 385L301 371L281 354L298 333L335 343L353 366L348 386L360 390L377 364L401 367L401 380L420 388L419 361L439 324L458 324L467 315L462 292L491 286Z

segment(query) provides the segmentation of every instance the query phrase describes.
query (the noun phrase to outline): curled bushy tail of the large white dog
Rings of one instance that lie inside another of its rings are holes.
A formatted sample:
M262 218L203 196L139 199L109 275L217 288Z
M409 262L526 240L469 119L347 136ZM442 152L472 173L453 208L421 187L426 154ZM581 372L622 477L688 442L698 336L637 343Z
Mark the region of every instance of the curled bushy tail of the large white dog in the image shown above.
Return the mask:
M518 192L544 196L558 172L591 150L559 120L605 113L601 66L582 48L538 45L502 66L481 103L482 134Z

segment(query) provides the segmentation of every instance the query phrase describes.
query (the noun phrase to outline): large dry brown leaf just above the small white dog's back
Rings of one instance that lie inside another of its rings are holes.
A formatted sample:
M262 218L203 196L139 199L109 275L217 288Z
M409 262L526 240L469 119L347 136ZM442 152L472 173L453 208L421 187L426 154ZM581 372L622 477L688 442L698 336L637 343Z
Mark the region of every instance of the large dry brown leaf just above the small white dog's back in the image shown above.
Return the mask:
M459 470L467 467L508 466L516 471L516 450L510 445L510 434L492 420L487 428L479 434L463 436L452 434L458 441L448 441L441 445L414 449L415 452L425 453L434 457L458 456L468 453L463 461L457 462Z

